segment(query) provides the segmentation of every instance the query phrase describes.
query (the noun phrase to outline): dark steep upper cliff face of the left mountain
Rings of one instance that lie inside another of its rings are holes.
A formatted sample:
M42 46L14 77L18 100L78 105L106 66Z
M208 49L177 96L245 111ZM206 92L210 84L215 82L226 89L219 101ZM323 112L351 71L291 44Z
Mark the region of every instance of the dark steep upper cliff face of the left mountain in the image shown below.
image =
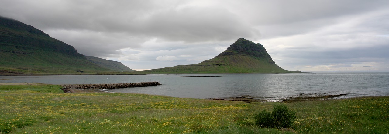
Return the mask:
M69 56L83 57L73 46L51 38L33 26L2 16L0 16L0 45L3 51L33 53L34 51L31 50L39 48Z

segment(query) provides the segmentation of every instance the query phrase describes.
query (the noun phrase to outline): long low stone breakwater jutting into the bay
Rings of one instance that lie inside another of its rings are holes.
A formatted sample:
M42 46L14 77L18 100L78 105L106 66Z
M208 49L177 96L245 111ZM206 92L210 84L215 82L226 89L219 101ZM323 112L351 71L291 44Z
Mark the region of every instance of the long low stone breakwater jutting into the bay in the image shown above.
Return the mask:
M120 83L120 84L72 84L61 85L65 89L114 89L114 88L133 88L141 86L158 86L159 82L139 82L139 83Z

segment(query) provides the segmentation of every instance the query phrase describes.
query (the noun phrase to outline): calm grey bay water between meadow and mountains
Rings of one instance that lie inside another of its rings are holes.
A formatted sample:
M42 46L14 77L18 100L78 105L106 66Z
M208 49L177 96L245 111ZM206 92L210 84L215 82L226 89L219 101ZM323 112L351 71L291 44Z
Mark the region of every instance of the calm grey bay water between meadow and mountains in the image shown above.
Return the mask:
M220 77L180 77L220 76ZM131 76L0 76L0 82L101 84L159 81L161 86L112 89L180 98L251 97L280 100L299 94L389 95L389 72L326 72L299 74L150 74Z

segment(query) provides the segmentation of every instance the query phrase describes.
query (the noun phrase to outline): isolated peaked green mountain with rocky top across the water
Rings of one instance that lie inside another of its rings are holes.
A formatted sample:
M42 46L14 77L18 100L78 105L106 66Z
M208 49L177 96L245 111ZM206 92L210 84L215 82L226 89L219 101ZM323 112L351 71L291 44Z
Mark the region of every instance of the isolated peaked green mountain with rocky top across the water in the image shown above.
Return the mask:
M147 73L293 73L279 67L259 43L239 38L215 58L199 64L145 70Z

